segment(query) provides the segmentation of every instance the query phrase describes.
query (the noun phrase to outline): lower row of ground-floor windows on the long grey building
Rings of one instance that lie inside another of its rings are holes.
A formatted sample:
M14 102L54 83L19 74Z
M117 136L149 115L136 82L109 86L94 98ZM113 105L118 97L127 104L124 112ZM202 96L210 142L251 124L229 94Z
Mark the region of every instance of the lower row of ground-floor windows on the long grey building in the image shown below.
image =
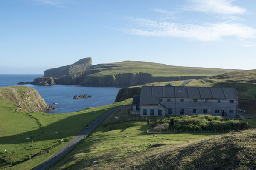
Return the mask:
M198 113L197 109L193 109L193 113ZM203 113L204 114L208 114L208 110L204 109ZM215 110L215 113L220 113L220 110ZM221 113L225 113L225 110L221 110ZM233 114L234 110L229 110L229 113ZM143 109L142 110L142 114L143 115L147 115L147 109ZM167 114L172 115L172 108L168 108ZM180 109L180 115L183 115L183 114L184 114L184 109ZM150 109L150 116L154 116L154 115L155 115L154 109ZM162 116L163 115L163 110L162 109L158 109L157 115L158 116Z

